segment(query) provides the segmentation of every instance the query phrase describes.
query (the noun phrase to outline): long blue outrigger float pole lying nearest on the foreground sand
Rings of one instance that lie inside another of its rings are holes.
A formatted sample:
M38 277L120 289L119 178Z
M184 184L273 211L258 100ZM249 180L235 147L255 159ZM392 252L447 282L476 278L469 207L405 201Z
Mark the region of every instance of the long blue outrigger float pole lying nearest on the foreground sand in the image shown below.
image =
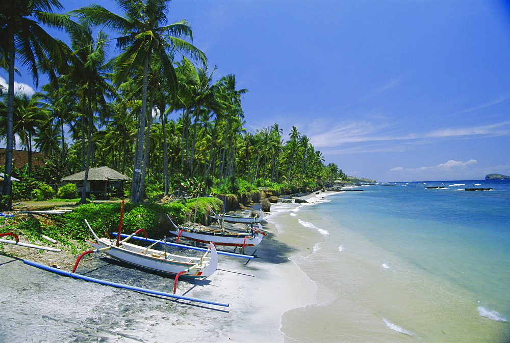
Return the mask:
M57 268L54 268L54 267L45 266L45 265L42 265L42 264L34 262L34 261L25 260L25 259L22 259L22 260L23 260L23 262L25 264L28 264L30 266L33 266L33 267L36 267L36 268L40 268L40 269L44 269L44 270L47 270L47 271L50 271L50 272L54 272L54 273L57 273L57 274L60 274L60 275L74 277L76 279L82 279L82 280L85 280L85 281L91 281L91 282L96 282L96 283L100 283L100 284L106 284L106 285L109 285L109 286L113 286L113 287L117 287L117 288L124 288L124 289L127 289L127 290L133 290L133 291L144 292L144 293L149 293L149 294L162 295L164 297L169 297L169 298L183 299L183 300L189 300L189 301L196 301L196 302L201 302L201 303L204 303L204 304L224 306L224 307L228 307L229 306L229 304L225 304L225 303L221 303L221 302L215 302L215 301L204 300L204 299L199 299L199 298L192 298L192 297L185 297L185 296L181 296L181 295L175 295L175 294L171 294L171 293L154 291L154 290L149 290L149 289L146 289L146 288L140 288L140 287L136 287L136 286L130 286L130 285L127 285L127 284L122 284L122 283L117 283L117 282L111 282L111 281L106 281L106 280L95 279L93 277L89 277L89 276L85 276L85 275L80 275L80 274L68 272L68 271L57 269Z

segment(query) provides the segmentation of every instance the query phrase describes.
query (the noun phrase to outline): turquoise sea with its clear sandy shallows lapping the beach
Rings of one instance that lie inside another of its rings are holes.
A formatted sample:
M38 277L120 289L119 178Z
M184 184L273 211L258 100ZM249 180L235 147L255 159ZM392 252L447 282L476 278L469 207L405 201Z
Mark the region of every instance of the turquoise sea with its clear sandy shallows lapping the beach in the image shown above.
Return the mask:
M510 180L352 189L272 209L317 285L288 341L510 341Z

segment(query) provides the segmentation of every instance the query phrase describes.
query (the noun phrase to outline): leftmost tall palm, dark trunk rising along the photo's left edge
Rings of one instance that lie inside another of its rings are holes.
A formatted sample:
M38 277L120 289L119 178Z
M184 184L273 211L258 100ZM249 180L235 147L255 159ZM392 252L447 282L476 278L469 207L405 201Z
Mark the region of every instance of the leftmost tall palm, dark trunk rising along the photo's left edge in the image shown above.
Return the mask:
M68 49L63 42L53 38L43 30L42 25L58 29L71 28L73 22L68 15L53 13L61 10L58 0L2 1L0 2L0 55L7 61L8 93L6 116L6 163L4 189L0 207L10 209L14 71L15 60L29 67L35 84L38 84L37 62L47 59L57 67L65 66Z

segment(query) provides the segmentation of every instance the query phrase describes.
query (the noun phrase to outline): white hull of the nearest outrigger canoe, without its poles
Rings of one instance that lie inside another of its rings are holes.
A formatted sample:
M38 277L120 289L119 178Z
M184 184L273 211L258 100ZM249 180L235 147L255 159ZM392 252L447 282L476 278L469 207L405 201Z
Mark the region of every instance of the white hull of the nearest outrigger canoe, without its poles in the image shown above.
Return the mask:
M100 238L97 243L90 241L87 243L98 249L111 246L111 249L104 252L114 259L157 273L176 275L199 263L196 268L182 274L182 276L205 278L212 275L218 266L218 254L214 244L211 244L208 256L202 260L201 258L170 253L166 254L165 259L164 251L145 249L144 247L125 242L121 243L118 247L112 246L112 244L115 244L114 242L107 238Z

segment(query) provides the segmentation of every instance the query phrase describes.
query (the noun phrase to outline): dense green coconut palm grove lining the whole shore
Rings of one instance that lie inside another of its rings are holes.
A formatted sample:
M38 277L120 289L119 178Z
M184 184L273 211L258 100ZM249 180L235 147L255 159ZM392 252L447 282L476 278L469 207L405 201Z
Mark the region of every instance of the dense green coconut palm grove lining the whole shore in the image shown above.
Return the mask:
M82 170L86 183L97 166L132 178L131 202L193 188L304 190L345 178L296 127L246 130L249 90L215 73L190 23L170 23L168 0L112 0L112 8L61 13L58 0L0 2L3 208ZM52 37L55 29L68 39ZM40 92L16 91L23 71ZM39 84L41 75L48 83ZM13 149L27 151L25 166L13 165ZM44 154L43 165L32 152Z

